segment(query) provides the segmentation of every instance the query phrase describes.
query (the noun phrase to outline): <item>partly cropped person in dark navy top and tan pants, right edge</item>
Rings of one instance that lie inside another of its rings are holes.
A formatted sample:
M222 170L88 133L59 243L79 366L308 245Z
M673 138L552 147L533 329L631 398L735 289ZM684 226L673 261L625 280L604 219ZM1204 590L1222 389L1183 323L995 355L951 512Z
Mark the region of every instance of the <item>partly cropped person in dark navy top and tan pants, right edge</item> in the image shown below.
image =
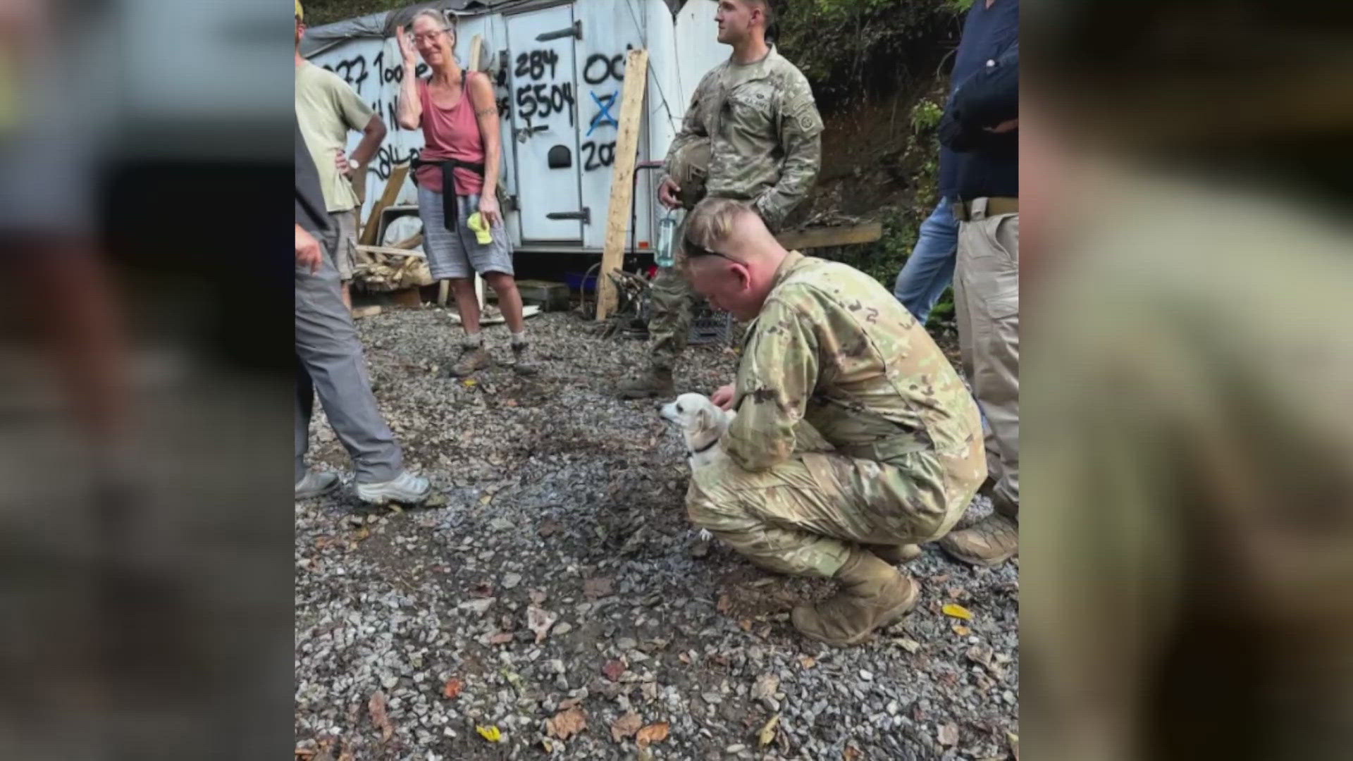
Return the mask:
M963 156L958 176L954 311L967 374L986 417L994 512L940 547L994 566L1019 550L1019 46L954 93L940 141Z

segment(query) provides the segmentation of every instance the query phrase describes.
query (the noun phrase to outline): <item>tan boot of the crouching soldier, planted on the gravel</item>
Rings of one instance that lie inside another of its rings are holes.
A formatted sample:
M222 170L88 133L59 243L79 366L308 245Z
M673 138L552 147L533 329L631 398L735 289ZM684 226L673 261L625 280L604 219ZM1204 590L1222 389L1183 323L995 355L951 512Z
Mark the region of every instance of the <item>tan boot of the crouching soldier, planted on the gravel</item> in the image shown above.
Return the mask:
M794 628L809 639L836 647L859 645L878 627L902 616L916 604L921 588L873 552L854 551L836 571L840 592L816 605L790 613Z

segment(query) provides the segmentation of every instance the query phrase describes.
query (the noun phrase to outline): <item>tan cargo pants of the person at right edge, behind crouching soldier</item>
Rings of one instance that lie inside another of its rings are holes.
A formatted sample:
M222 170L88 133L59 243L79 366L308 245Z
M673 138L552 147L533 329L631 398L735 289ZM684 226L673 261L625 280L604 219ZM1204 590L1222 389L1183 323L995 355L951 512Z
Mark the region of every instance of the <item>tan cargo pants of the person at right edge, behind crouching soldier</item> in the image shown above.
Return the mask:
M958 225L954 313L963 372L990 427L988 467L994 502L1019 512L1019 214L986 214L971 202Z

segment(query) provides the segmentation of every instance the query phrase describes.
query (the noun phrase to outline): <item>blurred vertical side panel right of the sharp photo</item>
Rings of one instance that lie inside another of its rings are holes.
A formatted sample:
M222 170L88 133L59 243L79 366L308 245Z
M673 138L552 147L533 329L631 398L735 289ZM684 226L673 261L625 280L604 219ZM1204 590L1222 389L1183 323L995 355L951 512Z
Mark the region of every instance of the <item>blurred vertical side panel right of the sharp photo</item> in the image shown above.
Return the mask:
M1024 0L1027 758L1353 757L1348 11Z

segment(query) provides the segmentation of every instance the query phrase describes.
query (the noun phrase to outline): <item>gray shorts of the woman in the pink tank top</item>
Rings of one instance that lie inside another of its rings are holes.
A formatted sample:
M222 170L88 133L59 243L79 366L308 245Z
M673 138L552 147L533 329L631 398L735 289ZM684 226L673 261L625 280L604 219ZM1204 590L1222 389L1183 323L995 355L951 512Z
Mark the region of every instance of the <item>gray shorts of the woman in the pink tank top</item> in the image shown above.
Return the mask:
M469 215L479 211L478 195L456 196L459 219L455 230L448 230L442 218L441 194L418 187L418 215L423 221L423 252L428 269L434 280L469 278L475 272L503 272L513 275L511 242L502 222L492 227L494 240L480 245L469 229Z

